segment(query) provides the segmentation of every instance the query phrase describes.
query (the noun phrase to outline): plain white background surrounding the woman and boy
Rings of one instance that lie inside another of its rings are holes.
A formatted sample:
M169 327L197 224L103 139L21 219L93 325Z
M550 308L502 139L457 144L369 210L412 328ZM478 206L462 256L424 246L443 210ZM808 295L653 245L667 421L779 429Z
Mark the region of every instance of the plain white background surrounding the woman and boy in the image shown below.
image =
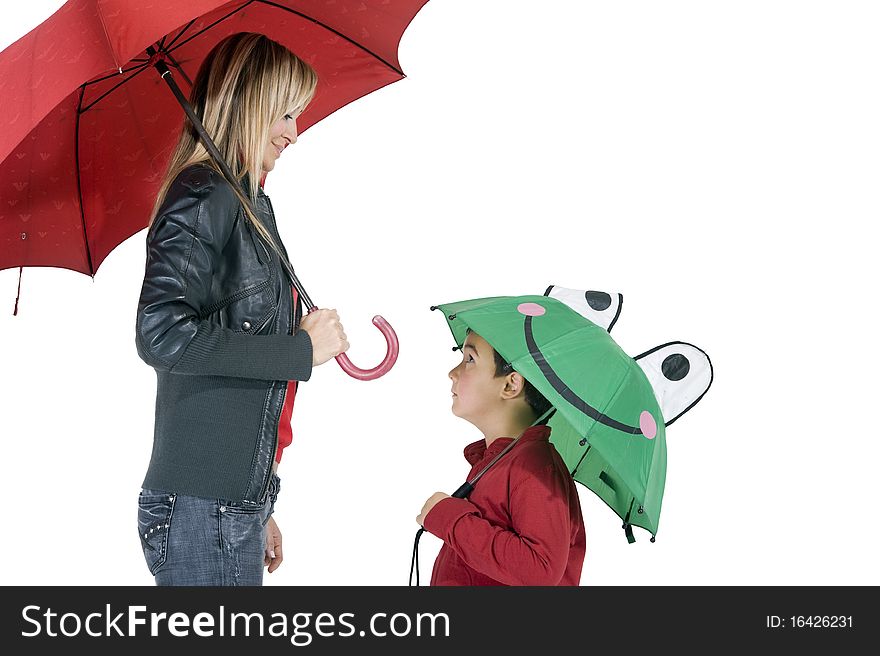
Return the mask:
M60 2L3 3L0 47ZM267 585L406 585L415 516L480 435L429 306L622 292L632 355L715 382L668 433L657 542L580 488L583 585L880 584L873 2L432 0L409 77L307 131L266 191L361 383L301 387ZM151 585L135 534L156 378L134 347L144 232L94 279L0 271L0 582ZM422 539L422 582L440 542Z

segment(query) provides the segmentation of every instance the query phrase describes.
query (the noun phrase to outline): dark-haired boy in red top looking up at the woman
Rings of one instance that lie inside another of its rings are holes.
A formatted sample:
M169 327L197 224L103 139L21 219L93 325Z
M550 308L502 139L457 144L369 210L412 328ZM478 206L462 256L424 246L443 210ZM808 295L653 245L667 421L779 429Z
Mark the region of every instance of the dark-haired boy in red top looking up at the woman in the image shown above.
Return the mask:
M416 518L443 540L431 585L579 585L584 523L574 480L534 425L550 403L474 332L449 372L452 412L485 439L465 447L470 481L521 434L467 499L433 494Z

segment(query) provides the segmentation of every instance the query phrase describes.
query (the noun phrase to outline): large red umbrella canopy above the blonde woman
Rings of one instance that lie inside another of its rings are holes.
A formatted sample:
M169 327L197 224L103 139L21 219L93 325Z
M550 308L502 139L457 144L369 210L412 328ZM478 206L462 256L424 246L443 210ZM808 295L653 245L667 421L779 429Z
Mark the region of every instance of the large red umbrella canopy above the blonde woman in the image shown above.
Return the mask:
M426 2L69 0L0 53L0 270L94 274L146 227L184 117L148 47L189 95L226 36L284 44L318 73L302 133L404 77L397 48Z

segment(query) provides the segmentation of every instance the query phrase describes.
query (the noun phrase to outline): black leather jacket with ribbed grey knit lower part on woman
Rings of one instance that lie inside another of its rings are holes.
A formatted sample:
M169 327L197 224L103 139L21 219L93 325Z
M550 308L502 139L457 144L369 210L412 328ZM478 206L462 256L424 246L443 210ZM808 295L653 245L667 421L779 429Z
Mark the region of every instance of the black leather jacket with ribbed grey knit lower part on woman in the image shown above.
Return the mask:
M283 249L262 189L254 205ZM136 344L157 394L143 487L265 501L287 381L311 375L300 316L278 256L225 179L185 169L147 234Z

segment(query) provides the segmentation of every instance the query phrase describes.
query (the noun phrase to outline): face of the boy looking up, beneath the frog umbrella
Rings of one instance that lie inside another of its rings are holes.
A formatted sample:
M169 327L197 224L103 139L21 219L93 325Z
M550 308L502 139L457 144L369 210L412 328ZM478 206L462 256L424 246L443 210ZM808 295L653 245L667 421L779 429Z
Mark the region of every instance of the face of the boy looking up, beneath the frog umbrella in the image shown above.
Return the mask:
M452 379L452 414L477 423L495 410L506 379L495 377L495 351L489 343L469 333L461 347L461 364L449 372Z

